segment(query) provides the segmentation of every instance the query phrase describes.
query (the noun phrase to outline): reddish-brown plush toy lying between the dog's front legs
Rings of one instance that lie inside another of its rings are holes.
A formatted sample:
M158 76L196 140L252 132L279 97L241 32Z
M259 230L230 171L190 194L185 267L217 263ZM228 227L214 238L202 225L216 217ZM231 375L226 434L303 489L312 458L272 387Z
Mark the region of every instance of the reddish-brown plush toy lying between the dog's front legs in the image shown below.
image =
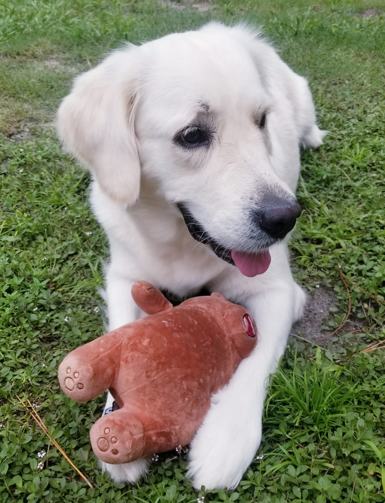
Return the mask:
M257 342L247 310L219 293L172 307L141 281L132 296L150 316L75 349L59 367L60 386L69 397L86 402L110 389L118 403L90 431L93 452L107 463L188 444L211 395Z

